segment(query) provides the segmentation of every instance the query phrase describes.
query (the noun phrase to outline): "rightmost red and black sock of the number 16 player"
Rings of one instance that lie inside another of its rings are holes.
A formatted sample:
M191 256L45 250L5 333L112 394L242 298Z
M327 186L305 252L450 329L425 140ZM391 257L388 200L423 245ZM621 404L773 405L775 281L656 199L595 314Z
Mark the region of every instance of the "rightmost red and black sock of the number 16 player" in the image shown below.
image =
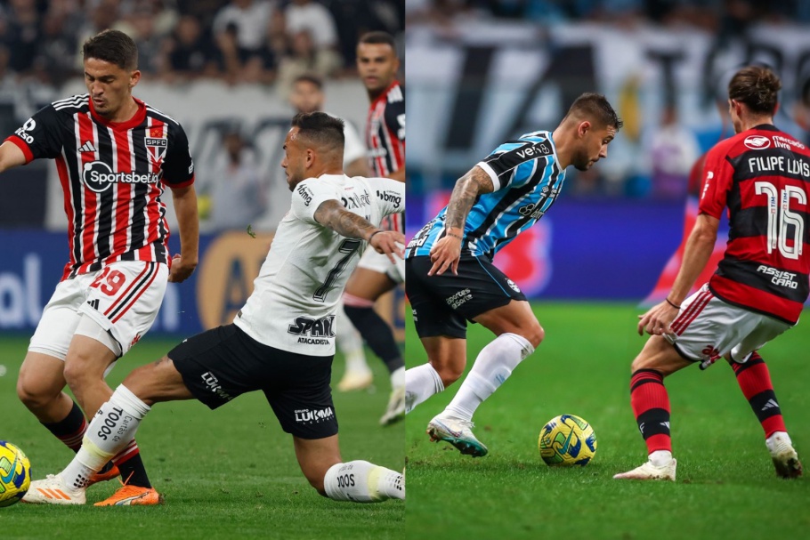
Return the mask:
M737 383L745 399L757 415L757 420L765 431L765 439L775 431L788 431L782 417L782 409L776 401L774 385L771 383L771 374L765 365L765 360L758 352L753 352L745 364L732 362L732 369L737 375Z

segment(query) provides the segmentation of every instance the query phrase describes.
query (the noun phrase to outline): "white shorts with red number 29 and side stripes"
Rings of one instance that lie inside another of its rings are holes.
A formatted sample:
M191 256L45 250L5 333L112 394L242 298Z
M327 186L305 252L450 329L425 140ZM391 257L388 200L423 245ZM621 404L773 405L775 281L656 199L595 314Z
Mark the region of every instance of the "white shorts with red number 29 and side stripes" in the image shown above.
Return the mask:
M166 264L126 261L62 281L43 310L28 351L64 360L74 334L82 334L123 356L158 316L168 276Z

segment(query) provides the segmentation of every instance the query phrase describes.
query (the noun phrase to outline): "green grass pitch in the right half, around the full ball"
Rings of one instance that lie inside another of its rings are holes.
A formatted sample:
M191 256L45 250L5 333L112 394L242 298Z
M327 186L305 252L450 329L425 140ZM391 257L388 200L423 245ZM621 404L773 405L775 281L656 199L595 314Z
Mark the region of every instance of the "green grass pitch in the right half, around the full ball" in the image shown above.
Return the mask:
M458 383L406 419L409 538L570 540L806 537L810 482L782 480L762 430L724 362L666 380L677 482L612 480L644 462L629 404L629 364L644 339L642 310L622 304L534 304L546 339L479 407L476 436L490 455L460 455L431 443L425 426ZM807 315L807 314L806 314ZM409 366L425 362L409 321ZM471 326L468 365L490 333ZM799 454L810 456L806 321L762 350ZM539 457L540 428L556 415L593 425L598 448L586 467L551 468Z

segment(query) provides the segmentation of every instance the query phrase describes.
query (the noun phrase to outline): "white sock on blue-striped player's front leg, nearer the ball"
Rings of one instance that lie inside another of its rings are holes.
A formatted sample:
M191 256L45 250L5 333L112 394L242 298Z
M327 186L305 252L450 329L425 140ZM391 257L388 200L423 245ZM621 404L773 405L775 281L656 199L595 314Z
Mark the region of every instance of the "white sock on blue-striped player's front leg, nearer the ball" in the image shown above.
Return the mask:
M459 420L471 420L475 409L498 390L514 368L532 352L534 347L522 335L498 335L478 353L473 369L444 412Z

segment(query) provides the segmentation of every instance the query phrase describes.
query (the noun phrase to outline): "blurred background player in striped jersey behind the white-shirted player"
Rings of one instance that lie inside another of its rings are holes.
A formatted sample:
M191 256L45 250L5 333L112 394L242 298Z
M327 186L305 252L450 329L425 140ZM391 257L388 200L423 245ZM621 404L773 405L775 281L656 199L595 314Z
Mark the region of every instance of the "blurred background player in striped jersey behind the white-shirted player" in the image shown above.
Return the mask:
M369 117L366 145L374 173L380 177L405 181L405 93L397 81L400 60L393 37L385 32L369 32L357 45L357 69L369 93ZM404 231L402 214L391 216L383 224L389 230ZM363 255L357 270L346 285L346 315L383 359L391 374L391 398L380 423L390 425L405 417L405 361L391 326L374 310L374 302L405 280L403 261L396 264L374 252ZM362 388L371 383L368 366L347 367L345 387Z

